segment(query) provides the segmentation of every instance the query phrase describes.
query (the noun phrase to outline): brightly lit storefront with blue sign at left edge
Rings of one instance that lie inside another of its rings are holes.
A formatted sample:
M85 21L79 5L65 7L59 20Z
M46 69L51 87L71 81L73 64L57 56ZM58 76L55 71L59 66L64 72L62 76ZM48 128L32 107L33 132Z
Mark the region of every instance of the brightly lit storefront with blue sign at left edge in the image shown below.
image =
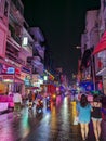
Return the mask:
M0 63L0 82L5 87L5 91L2 94L9 94L10 92L16 92L21 90L22 84L21 79L16 75L21 75L19 68L15 68L11 65Z

